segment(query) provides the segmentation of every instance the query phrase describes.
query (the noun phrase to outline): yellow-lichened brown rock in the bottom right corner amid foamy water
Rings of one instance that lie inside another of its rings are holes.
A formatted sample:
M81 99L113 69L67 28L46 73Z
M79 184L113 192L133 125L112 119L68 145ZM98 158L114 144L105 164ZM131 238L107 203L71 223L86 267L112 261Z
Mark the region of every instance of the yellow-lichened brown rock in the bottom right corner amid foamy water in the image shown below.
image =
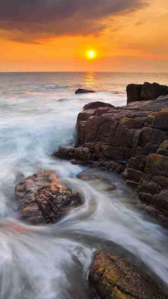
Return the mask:
M168 298L149 275L114 253L96 253L88 280L93 299Z

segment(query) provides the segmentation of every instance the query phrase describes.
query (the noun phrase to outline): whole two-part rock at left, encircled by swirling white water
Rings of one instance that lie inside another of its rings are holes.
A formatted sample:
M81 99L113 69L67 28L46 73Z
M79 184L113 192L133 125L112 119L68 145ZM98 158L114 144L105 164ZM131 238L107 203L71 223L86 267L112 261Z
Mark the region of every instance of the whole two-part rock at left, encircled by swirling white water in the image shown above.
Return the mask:
M31 224L58 221L70 208L81 205L74 191L59 186L56 173L50 170L22 179L15 188L19 219Z

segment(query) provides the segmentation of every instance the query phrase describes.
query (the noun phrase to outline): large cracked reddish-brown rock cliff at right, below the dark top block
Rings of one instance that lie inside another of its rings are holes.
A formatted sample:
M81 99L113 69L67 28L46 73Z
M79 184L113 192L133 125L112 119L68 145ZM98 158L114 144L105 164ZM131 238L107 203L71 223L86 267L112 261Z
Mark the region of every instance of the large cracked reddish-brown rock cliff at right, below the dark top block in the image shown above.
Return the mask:
M120 174L136 188L138 207L168 225L168 96L91 107L78 114L75 146L53 155Z

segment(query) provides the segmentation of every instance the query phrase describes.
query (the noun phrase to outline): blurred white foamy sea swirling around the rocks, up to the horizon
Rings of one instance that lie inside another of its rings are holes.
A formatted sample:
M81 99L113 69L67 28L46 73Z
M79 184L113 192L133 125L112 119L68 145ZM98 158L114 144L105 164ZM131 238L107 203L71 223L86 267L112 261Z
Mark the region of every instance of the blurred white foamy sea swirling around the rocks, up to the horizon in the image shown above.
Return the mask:
M85 282L97 249L126 249L167 284L167 231L134 208L136 194L114 174L50 156L59 144L75 142L86 103L125 105L126 85L144 81L168 84L168 75L0 73L1 299L88 298ZM82 87L98 92L75 95ZM55 225L27 226L16 220L16 174L43 169L58 173L83 205Z

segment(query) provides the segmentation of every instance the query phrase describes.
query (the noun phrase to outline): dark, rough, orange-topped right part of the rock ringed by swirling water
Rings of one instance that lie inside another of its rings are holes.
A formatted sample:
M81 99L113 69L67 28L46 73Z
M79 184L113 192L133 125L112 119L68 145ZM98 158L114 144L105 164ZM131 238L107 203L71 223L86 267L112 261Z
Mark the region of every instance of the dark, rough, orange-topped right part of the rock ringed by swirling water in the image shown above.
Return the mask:
M35 199L45 223L56 222L71 207L81 204L78 193L56 183L39 187L35 192Z

